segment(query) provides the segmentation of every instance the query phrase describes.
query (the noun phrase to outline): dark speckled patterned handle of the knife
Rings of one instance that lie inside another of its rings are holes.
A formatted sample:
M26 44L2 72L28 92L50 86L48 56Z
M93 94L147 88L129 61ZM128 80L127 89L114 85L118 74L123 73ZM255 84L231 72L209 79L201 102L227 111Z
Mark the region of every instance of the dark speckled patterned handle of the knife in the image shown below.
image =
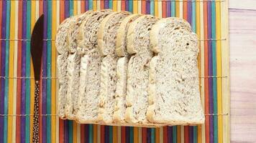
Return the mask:
M39 81L35 81L35 103L33 117L33 138L32 142L39 142Z

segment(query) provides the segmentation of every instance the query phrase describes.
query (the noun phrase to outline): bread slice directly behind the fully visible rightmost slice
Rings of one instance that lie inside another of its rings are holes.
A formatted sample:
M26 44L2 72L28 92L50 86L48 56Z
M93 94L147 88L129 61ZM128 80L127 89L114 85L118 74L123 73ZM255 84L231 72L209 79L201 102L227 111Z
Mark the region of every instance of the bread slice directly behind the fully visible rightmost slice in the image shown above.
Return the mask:
M146 119L148 107L149 64L152 58L150 31L158 19L155 16L140 16L129 26L127 51L134 54L127 69L127 99L125 120L130 124L151 124Z

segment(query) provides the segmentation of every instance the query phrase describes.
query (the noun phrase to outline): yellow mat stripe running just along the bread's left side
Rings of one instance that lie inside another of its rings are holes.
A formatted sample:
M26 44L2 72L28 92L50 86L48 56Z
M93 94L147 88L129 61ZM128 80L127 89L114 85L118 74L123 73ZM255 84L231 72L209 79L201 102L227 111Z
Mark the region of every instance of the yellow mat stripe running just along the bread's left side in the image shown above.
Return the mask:
M56 1L52 1L52 39L55 38L56 31L57 31L57 25L55 19L57 19L57 5ZM55 41L52 41L52 77L56 77L56 48L55 48ZM56 79L52 79L52 109L51 113L56 114ZM51 142L56 141L56 117L52 116L52 138Z

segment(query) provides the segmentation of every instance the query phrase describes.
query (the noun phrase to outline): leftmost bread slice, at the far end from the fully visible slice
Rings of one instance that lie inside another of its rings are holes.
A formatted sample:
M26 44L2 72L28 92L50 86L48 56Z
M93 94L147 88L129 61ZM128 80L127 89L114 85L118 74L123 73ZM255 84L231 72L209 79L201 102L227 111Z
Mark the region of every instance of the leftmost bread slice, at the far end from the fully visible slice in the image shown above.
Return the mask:
M68 77L67 77L67 65L68 65L68 27L76 22L76 16L65 19L59 26L55 46L58 51L57 66L58 66L58 116L61 119L65 119L65 104L66 95L68 91Z

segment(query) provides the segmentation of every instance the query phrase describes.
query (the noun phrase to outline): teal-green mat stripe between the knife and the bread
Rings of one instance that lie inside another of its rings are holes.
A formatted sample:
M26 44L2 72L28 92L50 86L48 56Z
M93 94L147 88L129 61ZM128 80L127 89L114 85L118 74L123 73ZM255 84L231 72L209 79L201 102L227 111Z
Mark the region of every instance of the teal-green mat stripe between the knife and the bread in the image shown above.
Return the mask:
M47 1L47 39L52 39L52 1ZM47 41L47 77L51 77L52 71L52 43L51 41ZM46 98L46 114L51 114L51 79L47 79L46 88L47 88L47 98ZM46 125L47 125L47 142L51 142L51 117L46 117Z

